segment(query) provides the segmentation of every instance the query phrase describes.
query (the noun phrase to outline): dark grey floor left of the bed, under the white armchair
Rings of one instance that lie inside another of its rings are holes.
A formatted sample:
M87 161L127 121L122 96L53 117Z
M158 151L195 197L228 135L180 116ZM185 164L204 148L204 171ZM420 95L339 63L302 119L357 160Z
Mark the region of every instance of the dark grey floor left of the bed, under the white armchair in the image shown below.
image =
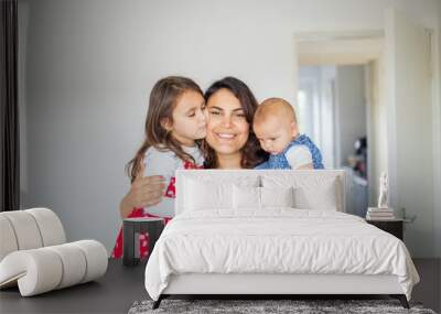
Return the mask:
M149 297L144 268L123 267L120 259L111 259L97 281L30 297L20 297L17 288L0 290L0 314L127 313L135 301Z

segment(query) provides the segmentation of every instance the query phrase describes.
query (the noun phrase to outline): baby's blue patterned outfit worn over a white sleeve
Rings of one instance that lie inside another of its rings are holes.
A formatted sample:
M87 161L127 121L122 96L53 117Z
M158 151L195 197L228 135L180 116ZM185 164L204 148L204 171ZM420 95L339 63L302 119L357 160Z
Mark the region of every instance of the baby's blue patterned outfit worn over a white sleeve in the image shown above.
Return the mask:
M324 169L322 163L322 153L319 148L311 141L309 137L305 134L298 136L295 140L291 141L288 147L280 154L271 154L269 160L257 165L255 169L263 170L263 169L291 169L288 163L288 159L286 153L295 145L304 145L310 151L312 156L312 164L314 169Z

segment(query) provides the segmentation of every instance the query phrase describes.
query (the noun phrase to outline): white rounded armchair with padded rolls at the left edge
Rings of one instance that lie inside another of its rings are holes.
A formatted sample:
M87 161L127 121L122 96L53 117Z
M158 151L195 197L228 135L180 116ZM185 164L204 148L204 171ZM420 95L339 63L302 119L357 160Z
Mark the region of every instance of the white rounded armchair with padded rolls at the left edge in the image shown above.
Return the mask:
M95 240L65 243L64 228L47 208L0 213L0 289L22 296L95 280L106 273L106 248Z

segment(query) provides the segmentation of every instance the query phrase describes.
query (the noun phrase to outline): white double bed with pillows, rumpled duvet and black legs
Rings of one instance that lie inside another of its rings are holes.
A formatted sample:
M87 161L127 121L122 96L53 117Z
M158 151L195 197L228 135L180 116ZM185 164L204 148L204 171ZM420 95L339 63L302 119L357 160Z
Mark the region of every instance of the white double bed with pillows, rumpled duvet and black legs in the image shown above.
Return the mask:
M398 238L345 214L340 170L176 172L175 218L146 267L173 294L388 294L419 275Z

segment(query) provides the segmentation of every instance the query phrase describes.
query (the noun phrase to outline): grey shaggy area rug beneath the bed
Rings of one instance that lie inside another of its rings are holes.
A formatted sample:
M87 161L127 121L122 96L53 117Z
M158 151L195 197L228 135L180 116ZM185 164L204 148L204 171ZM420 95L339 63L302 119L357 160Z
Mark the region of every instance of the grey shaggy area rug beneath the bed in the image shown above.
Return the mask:
M129 314L160 313L428 313L421 303L410 302L410 310L398 300L170 300L165 299L157 310L153 301L135 302Z

